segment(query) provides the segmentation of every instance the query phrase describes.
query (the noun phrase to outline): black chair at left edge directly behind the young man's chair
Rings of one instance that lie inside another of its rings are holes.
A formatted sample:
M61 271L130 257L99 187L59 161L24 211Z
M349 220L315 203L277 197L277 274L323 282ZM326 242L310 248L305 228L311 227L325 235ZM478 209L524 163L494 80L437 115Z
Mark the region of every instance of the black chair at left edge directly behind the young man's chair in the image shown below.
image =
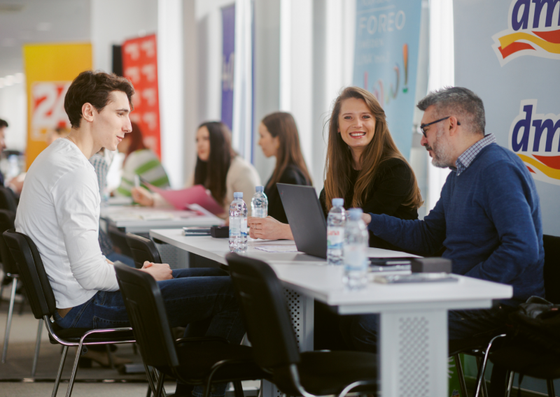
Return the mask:
M15 213L8 210L0 210L0 233L6 230L14 228ZM8 354L8 341L10 338L10 329L12 326L13 318L13 306L15 303L15 290L18 288L18 280L20 275L18 273L18 267L15 265L12 254L8 250L8 246L4 241L3 237L0 236L0 259L2 261L2 268L5 273L4 280L2 280L2 287L0 288L0 296L2 296L4 281L12 280L12 292L10 294L10 304L8 306L8 318L6 319L6 333L4 333L4 345L2 349L2 363L6 363L6 356ZM23 305L24 301L22 301ZM20 307L20 310L22 307ZM35 371L37 369L37 360L39 355L39 347L41 346L41 333L43 331L43 324L41 320L38 322L37 328L37 340L35 342L35 354L33 359L33 366L31 366L31 377L35 377Z

